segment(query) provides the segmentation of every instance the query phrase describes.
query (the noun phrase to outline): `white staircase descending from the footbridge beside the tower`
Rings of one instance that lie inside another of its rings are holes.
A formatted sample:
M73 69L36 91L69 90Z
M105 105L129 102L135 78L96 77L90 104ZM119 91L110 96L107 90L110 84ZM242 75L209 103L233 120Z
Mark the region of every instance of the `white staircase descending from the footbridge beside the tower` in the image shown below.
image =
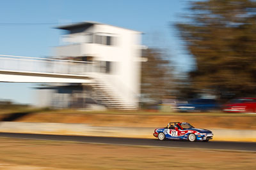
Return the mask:
M136 110L136 106L125 101L125 99L114 90L114 87L108 85L104 80L94 79L90 83L92 87L91 95L98 103L113 110Z

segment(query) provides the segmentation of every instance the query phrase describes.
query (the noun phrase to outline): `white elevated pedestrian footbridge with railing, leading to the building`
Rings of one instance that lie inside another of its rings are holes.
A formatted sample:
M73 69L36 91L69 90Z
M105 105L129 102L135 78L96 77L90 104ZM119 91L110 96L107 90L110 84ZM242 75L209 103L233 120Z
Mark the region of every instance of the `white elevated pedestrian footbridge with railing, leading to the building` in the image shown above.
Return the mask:
M91 83L93 62L0 55L0 81Z

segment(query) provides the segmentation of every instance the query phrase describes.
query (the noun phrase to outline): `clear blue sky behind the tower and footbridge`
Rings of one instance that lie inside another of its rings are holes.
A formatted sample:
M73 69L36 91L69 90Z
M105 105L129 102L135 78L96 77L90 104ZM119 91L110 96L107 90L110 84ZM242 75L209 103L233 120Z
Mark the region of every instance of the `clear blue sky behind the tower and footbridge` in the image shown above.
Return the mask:
M61 35L52 27L90 20L144 32L143 45L167 48L179 71L187 71L191 59L170 26L180 20L178 15L184 8L186 3L182 0L1 0L0 54L52 55L51 47L59 45ZM19 25L24 23L31 25ZM33 103L35 86L0 83L0 99Z

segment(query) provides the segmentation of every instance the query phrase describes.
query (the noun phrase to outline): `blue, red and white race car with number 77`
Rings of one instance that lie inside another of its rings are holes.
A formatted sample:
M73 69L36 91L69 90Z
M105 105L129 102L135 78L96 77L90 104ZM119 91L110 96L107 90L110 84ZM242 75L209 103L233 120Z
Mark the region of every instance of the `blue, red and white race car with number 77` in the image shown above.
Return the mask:
M187 122L170 122L167 127L155 129L154 134L160 141L164 139L183 139L188 141L209 141L213 134L207 129L197 129Z

